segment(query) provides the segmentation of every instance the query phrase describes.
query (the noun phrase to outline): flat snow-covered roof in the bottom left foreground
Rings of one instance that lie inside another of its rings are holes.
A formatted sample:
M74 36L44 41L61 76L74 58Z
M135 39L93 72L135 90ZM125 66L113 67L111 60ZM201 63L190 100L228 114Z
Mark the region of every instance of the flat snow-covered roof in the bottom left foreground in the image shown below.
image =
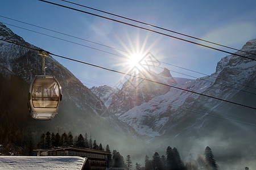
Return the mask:
M0 169L82 169L87 158L79 156L0 156Z

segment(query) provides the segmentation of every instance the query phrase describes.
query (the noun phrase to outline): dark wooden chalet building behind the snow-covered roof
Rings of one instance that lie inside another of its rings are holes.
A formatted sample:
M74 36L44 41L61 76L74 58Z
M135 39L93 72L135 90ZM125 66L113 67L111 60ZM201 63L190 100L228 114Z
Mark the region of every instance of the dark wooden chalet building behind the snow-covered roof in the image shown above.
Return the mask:
M92 150L89 148L80 147L55 147L51 149L36 149L33 150L36 156L81 156L89 160L92 170L103 170L108 168L108 154L110 152Z

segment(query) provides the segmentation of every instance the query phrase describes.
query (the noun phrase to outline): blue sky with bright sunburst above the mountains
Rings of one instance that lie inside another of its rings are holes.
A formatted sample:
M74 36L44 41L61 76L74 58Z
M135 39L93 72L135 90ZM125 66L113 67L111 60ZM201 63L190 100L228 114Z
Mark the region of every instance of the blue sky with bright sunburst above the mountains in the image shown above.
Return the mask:
M101 12L70 5L59 0L49 1L122 20L123 22L129 22L114 16L102 14ZM237 49L241 49L246 41L256 38L256 1L70 1ZM129 25L115 23L110 20L35 0L5 1L1 3L0 11L1 16L53 29L120 50L130 51L130 54L139 51L144 54L150 52L159 61L205 74L213 73L217 62L222 57L228 55L143 29L133 28ZM124 53L120 53L117 50L14 22L13 20L2 17L0 17L0 22L32 29L47 35L90 46L91 48L85 48L81 45L53 39L52 37L7 25L14 33L23 37L27 42L51 53L129 73L131 66L129 66L127 59L120 57ZM133 22L129 23L192 40L174 33L147 27L146 25ZM192 41L202 43L197 40ZM108 53L92 48L104 50ZM224 50L235 52L229 49ZM122 80L122 75L117 73L57 57L54 58L67 67L75 76L83 78L81 82L88 87L101 85L93 82L115 86L119 80ZM168 69L196 77L202 76L177 69L177 67L164 65L163 63L161 63L160 67L167 67ZM158 67L154 71L159 73L162 69ZM173 72L171 74L172 76L189 78L189 76Z

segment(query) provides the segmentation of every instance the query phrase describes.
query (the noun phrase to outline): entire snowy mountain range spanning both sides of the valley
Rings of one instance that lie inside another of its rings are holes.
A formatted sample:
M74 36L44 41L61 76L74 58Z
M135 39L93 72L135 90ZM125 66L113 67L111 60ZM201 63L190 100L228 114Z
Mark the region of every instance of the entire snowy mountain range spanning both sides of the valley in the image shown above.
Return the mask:
M37 48L1 23L0 39ZM255 54L256 39L241 50ZM34 134L56 130L92 132L97 141L116 148L125 146L122 149L129 152L143 148L141 156L167 146L190 151L210 143L211 148L228 158L245 156L242 150L256 147L255 129L250 126L255 124L255 109L135 78L128 79L121 90L108 86L89 89L55 59L46 59L46 65L47 74L55 75L63 88L63 101L53 120L34 121L27 111L27 92L34 76L41 74L42 59L34 50L0 41L0 130L11 122L31 128ZM210 76L177 83L164 69L146 78L255 108L255 69L256 61L229 55L217 63ZM229 152L224 153L225 149Z

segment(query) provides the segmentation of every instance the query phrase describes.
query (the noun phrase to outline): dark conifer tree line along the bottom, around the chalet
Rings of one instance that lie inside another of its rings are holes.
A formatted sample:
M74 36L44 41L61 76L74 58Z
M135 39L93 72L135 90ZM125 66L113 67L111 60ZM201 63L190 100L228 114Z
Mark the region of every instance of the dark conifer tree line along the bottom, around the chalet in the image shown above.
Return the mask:
M5 124L0 125L0 155L33 155L34 137L30 129L18 128L8 121ZM40 141L36 144L36 148L52 148L59 146L76 146L81 148L91 148L94 150L102 150L102 144L97 145L96 140L92 140L92 135L88 136L87 133L83 136L80 134L78 137L73 137L72 133L49 133L40 135ZM216 160L214 159L213 152L209 146L205 148L204 155L197 155L194 159L190 154L188 162L183 163L180 158L179 151L177 148L171 148L170 146L166 149L166 155L160 156L158 152L155 152L150 159L147 155L144 159L144 167L135 163L133 165L131 156L127 155L126 159L117 151L110 151L109 145L106 145L105 151L110 152L108 155L108 162L110 168L120 168L125 167L127 169L135 170L151 170L151 169L185 169L185 170L195 170L195 169L218 169ZM248 167L245 167L249 170Z

